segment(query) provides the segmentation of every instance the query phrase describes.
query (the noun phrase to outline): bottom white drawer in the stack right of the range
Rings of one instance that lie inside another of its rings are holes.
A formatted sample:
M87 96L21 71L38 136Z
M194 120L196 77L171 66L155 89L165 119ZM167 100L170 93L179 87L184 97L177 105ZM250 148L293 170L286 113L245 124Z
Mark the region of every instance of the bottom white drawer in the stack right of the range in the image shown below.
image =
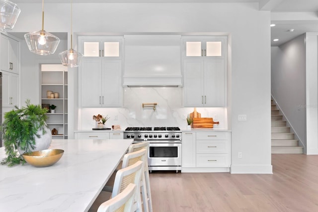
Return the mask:
M229 167L228 154L197 154L196 167Z

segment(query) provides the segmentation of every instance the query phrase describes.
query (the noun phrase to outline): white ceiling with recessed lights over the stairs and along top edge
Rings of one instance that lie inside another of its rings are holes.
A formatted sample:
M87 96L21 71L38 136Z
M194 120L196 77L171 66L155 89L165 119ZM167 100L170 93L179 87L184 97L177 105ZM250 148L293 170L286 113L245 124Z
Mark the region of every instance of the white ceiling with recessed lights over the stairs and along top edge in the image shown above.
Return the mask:
M42 0L12 0L15 3L42 3ZM45 0L44 3L70 3L71 0ZM105 2L259 2L260 10L271 11L271 46L278 46L305 32L318 32L318 0L73 0L73 3ZM289 29L294 29L289 32ZM278 38L278 42L273 39Z

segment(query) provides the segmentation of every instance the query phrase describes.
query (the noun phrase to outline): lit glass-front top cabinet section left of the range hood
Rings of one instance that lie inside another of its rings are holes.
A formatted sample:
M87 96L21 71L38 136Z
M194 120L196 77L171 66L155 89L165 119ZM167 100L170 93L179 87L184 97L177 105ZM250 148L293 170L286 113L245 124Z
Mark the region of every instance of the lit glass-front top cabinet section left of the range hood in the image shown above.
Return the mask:
M79 36L79 52L84 57L121 59L122 44L119 36Z

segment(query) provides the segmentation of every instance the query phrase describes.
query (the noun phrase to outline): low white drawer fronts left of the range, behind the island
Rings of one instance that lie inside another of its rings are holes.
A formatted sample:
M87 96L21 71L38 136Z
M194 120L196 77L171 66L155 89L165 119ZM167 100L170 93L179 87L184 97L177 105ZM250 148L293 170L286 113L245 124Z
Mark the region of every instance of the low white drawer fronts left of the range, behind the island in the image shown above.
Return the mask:
M75 132L75 139L124 139L124 133L109 130Z

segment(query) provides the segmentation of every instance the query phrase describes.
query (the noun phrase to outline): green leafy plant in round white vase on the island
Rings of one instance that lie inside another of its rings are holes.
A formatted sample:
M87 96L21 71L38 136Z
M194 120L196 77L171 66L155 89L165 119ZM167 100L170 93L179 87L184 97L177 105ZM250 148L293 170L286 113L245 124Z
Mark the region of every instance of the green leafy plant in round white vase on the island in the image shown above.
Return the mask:
M32 105L29 100L25 103L24 107L15 106L15 109L4 113L1 132L7 157L1 164L20 164L24 162L23 153L47 149L51 144L52 135L45 123L47 109Z

